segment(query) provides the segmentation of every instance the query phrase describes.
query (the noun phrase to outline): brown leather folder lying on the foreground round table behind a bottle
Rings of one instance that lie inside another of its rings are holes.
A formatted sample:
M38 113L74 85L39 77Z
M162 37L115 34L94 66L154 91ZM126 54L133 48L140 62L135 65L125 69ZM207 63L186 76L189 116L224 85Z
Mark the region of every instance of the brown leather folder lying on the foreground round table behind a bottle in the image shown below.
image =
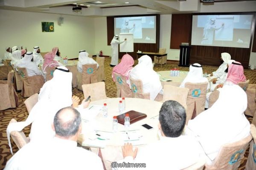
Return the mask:
M135 122L138 122L141 119L145 119L147 115L145 113L140 113L137 111L128 111L125 113L122 113L118 116L116 116L116 119L118 120L118 123L124 125L125 124L125 114L128 113L130 117L130 124L133 124Z

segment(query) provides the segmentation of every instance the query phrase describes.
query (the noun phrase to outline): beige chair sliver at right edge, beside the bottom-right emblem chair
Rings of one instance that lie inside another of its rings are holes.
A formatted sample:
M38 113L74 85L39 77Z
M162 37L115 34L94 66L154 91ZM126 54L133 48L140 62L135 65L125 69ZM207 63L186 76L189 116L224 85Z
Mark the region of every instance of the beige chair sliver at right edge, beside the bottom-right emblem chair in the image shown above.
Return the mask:
M245 170L256 170L256 127L253 124L251 124L250 133L253 136L253 140L250 142L250 150Z

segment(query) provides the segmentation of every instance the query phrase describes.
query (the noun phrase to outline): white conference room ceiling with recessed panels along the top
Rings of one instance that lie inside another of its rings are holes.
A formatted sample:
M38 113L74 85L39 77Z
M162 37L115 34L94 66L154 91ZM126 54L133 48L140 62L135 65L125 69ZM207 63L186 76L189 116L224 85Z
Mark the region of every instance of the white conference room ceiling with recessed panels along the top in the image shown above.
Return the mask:
M218 8L220 3L227 5L238 1L241 0L215 0L213 4L201 3L200 0L0 0L0 9L100 17L202 12L202 6ZM72 11L74 6L81 7L81 12Z

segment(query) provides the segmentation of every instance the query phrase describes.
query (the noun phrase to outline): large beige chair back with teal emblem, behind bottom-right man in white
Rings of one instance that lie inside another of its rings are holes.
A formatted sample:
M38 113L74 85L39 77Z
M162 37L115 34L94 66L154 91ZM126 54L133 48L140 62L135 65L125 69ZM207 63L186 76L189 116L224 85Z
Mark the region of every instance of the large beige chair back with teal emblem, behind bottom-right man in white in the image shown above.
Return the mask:
M224 144L214 161L205 164L204 170L237 170L251 140L252 136L249 135L240 141Z

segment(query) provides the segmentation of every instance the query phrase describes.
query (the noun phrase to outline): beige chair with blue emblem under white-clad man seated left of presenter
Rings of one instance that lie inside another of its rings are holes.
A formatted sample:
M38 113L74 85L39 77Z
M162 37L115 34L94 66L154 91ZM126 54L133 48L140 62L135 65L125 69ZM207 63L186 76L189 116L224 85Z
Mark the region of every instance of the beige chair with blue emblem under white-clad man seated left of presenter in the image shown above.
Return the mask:
M77 73L77 88L82 89L82 85L96 83L97 80L97 65L96 64L85 64L82 65L83 72Z

